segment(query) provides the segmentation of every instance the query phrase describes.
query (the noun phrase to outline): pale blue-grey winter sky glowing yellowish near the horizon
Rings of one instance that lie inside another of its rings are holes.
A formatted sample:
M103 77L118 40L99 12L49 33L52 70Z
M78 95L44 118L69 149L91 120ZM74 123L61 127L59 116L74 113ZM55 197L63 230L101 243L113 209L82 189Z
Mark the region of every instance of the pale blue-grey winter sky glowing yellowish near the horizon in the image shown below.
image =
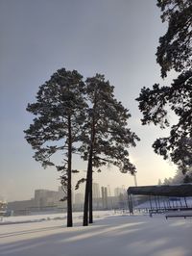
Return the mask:
M60 185L55 169L43 169L32 158L23 133L33 119L27 103L60 67L77 69L84 78L105 74L130 109L129 125L141 139L130 151L138 185L175 174L176 166L151 146L168 131L142 126L134 100L143 86L171 81L161 81L156 64L158 38L166 30L159 16L154 0L0 0L0 196L28 199L35 189ZM85 168L78 159L74 166ZM94 174L94 181L111 190L133 185L132 176L112 166Z

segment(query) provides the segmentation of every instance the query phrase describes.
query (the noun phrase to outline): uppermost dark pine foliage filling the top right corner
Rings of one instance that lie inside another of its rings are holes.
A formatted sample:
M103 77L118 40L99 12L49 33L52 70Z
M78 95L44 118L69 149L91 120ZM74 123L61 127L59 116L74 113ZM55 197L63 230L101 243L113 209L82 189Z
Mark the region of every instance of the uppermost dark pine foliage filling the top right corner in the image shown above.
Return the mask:
M192 3L190 0L157 0L162 22L168 22L167 32L159 38L156 62L161 66L161 76L175 69L191 68Z

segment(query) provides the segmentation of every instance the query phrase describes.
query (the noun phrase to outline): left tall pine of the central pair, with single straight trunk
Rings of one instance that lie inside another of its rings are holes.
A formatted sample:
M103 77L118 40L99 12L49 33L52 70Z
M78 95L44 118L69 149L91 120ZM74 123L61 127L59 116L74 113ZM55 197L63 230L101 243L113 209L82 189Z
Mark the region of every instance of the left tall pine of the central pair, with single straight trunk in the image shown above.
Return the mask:
M36 115L33 123L25 132L25 139L35 150L34 158L43 167L56 166L60 174L60 183L67 200L67 226L72 220L71 174L72 153L77 151L84 123L84 82L83 76L76 70L64 68L54 73L50 80L39 87L36 103L28 104L27 111ZM57 165L59 154L62 165ZM54 158L53 156L56 155Z

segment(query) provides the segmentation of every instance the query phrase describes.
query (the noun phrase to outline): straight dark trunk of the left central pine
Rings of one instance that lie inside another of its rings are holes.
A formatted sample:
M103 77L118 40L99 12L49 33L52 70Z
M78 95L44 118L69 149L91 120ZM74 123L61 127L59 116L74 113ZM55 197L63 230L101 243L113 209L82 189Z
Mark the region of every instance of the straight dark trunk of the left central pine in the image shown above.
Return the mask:
M72 192L71 192L71 162L72 162L71 116L69 115L68 116L67 227L73 226Z

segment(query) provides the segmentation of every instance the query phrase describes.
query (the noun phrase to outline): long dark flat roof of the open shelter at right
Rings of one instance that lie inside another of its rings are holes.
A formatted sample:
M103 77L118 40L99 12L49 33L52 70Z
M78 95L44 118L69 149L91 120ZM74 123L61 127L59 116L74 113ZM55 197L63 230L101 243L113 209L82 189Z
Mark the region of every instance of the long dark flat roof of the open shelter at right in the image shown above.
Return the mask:
M180 185L130 187L127 192L128 194L187 197L192 196L192 183Z

